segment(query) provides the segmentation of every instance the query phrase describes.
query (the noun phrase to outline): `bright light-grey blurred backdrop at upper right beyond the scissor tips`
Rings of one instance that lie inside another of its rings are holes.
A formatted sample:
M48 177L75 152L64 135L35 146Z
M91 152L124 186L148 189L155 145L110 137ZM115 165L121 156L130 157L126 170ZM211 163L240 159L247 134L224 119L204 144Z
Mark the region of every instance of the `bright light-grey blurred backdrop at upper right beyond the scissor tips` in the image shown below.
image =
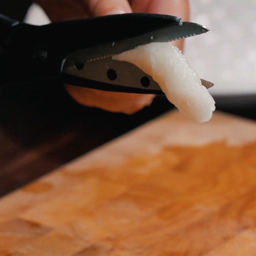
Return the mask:
M254 0L191 1L191 21L211 31L188 38L185 55L201 77L212 81L210 90L227 104L255 104L256 94L256 4ZM252 95L248 101L248 95ZM243 97L244 96L244 97ZM220 102L219 102L220 104Z

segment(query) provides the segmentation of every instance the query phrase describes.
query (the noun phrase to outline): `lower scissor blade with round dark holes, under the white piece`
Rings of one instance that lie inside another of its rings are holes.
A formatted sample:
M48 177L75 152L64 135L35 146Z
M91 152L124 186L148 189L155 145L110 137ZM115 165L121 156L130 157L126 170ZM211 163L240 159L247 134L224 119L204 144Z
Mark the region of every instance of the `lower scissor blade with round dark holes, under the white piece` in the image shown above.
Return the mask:
M112 58L80 63L66 68L65 73L72 76L68 81L73 85L116 92L163 94L159 84L140 68ZM201 81L207 89L213 86L206 80Z

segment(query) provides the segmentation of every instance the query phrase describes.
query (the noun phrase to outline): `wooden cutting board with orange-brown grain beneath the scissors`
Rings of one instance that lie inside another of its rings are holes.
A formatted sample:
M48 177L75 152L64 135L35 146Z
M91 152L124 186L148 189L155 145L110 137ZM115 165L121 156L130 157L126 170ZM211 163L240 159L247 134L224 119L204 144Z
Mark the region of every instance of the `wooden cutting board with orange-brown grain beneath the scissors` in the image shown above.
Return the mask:
M15 191L7 255L256 255L256 124L174 111Z

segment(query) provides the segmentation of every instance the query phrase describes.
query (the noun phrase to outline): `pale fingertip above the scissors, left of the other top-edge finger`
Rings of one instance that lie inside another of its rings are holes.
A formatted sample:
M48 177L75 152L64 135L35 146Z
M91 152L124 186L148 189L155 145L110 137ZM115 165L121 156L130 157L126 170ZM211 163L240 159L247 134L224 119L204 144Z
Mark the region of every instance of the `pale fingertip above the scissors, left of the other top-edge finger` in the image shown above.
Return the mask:
M92 16L132 12L127 0L89 0L88 7Z

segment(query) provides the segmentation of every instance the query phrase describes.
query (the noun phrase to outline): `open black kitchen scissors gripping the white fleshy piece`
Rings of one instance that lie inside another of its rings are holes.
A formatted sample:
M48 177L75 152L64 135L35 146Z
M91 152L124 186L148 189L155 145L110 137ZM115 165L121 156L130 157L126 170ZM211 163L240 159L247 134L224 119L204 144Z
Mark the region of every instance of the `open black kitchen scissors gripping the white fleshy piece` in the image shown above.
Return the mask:
M130 13L44 26L0 15L0 31L1 85L56 80L105 91L162 94L151 76L111 57L142 44L170 42L209 30L174 16ZM202 84L213 85L203 79Z

